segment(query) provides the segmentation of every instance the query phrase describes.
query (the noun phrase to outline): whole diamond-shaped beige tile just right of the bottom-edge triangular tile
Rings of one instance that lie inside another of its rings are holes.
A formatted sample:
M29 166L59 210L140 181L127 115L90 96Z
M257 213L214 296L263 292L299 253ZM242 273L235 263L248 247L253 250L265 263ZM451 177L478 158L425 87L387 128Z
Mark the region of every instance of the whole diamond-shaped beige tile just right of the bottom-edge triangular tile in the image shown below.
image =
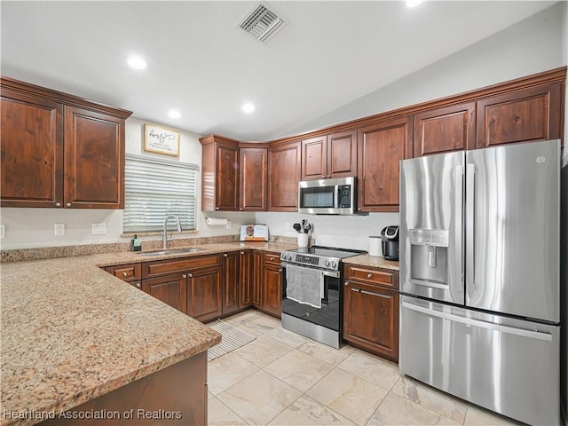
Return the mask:
M325 404L352 422L364 425L388 391L356 375L335 368L306 395Z

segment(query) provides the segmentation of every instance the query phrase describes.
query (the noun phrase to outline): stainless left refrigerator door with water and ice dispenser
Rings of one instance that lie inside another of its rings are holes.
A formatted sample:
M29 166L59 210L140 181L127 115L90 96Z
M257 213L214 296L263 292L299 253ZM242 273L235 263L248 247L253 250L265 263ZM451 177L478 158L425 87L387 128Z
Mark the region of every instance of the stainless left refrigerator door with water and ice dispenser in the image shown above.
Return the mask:
M464 304L465 153L400 162L400 291Z

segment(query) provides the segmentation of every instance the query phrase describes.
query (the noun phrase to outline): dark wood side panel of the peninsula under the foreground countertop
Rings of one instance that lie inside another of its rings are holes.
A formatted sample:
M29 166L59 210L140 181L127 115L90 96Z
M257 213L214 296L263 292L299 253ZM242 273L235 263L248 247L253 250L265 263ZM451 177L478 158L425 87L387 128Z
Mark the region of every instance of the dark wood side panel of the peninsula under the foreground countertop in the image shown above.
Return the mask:
M132 411L132 418L130 411ZM81 419L83 414L106 414L106 420ZM153 413L162 414L156 420ZM146 375L122 388L91 399L42 426L154 426L207 424L207 351ZM73 419L73 416L77 417Z

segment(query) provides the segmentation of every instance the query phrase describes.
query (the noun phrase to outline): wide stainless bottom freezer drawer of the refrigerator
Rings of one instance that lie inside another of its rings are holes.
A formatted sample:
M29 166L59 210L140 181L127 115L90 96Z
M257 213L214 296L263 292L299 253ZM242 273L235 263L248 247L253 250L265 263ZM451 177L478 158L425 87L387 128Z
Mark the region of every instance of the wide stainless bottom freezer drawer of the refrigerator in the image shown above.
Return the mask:
M402 296L398 367L520 422L559 425L559 328Z

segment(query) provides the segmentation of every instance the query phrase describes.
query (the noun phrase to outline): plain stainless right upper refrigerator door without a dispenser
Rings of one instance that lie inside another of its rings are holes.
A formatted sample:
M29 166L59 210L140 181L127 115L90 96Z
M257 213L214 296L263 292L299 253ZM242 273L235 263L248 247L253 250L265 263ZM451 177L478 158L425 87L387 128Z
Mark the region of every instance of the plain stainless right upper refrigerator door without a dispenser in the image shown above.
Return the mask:
M469 151L465 209L466 305L559 322L560 141Z

